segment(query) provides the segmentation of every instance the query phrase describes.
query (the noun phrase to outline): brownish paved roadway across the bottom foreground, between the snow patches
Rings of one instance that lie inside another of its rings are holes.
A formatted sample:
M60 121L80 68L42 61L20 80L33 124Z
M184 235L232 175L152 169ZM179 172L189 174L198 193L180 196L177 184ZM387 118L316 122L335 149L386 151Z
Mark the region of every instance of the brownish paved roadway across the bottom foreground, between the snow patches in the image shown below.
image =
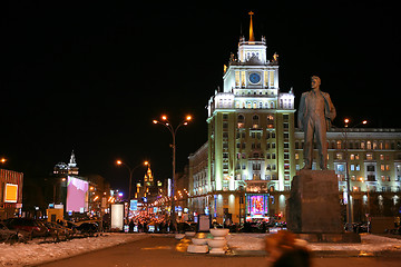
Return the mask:
M262 256L211 256L189 255L180 253L182 244L172 237L150 237L119 245L116 247L88 253L68 259L48 263L39 266L46 267L70 267L70 266L110 266L110 267L153 267L153 266L185 266L185 267L245 267L267 266L266 259ZM334 266L385 266L399 267L401 257L343 257L343 258L313 258L313 267Z

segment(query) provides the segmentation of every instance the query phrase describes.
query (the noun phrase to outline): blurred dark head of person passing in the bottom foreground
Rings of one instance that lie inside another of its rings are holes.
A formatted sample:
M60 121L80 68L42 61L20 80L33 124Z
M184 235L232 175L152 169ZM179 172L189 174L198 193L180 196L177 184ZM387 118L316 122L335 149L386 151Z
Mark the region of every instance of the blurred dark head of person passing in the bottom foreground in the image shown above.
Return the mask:
M265 239L271 267L310 267L310 251L301 241L295 240L294 234L281 230Z

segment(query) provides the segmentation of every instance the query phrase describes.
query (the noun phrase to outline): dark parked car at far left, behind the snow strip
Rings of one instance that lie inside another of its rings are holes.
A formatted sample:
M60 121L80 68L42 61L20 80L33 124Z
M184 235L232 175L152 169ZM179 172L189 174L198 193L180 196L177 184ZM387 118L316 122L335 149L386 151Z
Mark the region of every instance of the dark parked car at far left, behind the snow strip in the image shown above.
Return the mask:
M23 235L31 237L45 237L49 235L49 229L40 221L30 218L10 218L6 220L10 229L18 230Z

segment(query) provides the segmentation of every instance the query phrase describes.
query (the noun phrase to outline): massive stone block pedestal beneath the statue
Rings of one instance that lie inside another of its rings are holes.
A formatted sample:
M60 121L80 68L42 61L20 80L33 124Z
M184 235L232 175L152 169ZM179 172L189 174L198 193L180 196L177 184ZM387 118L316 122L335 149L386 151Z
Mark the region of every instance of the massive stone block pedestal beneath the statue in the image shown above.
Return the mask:
M300 170L291 184L287 228L297 234L341 234L334 170Z

